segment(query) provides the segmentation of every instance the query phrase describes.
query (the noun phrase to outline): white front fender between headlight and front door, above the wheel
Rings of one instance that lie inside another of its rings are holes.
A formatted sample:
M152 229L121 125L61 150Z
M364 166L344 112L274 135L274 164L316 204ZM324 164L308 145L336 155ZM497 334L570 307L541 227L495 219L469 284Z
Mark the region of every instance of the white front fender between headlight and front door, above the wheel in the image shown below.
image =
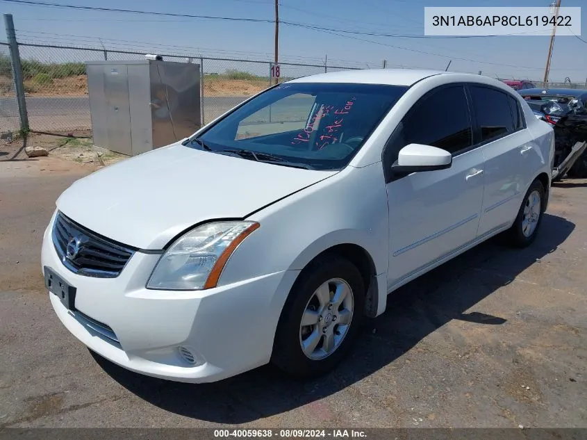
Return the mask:
M388 204L381 163L347 167L247 220L261 227L235 250L219 285L301 270L324 250L345 243L370 254L377 274L388 270Z

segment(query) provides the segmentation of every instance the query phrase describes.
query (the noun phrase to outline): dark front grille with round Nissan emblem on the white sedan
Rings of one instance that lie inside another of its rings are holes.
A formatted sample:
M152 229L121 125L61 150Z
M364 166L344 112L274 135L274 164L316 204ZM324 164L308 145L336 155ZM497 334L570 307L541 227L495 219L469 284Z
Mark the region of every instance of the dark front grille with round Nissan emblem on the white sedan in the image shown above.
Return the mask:
M117 277L135 252L78 225L63 213L57 214L53 225L53 245L66 268L97 278Z

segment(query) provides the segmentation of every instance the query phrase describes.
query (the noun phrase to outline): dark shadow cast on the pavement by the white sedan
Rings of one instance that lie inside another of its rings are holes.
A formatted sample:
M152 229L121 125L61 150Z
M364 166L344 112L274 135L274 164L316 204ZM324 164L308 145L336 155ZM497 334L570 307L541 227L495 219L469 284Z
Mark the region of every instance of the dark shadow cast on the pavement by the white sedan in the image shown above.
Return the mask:
M390 295L386 312L367 322L352 355L318 380L299 382L263 366L221 382L182 384L138 375L92 356L110 377L152 405L215 423L247 423L345 389L391 364L450 320L501 325L506 320L499 316L465 312L554 252L573 229L572 222L546 214L530 247L512 249L498 236L399 288Z

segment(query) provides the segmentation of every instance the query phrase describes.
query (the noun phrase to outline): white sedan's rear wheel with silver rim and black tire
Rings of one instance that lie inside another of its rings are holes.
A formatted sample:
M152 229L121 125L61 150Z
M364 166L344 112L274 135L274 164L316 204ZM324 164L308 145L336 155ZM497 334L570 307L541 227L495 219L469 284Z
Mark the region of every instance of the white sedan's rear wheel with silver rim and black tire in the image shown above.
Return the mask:
M543 206L545 206L545 189L537 179L532 182L524 195L522 206L520 206L518 215L509 229L511 245L526 247L534 241L542 222Z

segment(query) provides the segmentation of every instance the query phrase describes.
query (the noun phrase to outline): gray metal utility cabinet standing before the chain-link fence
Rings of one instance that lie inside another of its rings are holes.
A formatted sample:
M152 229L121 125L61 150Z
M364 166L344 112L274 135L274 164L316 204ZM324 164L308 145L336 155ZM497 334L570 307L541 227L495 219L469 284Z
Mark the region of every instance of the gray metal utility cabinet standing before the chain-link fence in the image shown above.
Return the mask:
M94 145L136 156L201 127L198 64L90 61L86 72Z

